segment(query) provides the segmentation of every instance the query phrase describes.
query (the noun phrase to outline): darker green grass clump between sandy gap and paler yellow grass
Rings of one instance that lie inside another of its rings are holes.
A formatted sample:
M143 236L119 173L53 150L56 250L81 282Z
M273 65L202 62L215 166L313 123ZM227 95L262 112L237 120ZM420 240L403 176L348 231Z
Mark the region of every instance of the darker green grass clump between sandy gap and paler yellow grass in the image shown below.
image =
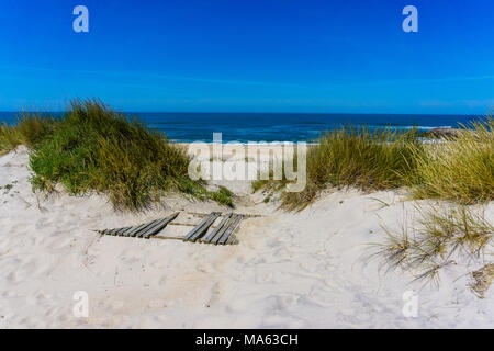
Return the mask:
M283 193L281 206L302 210L325 188L353 186L363 191L407 184L423 152L417 131L369 131L345 126L326 133L307 151L307 184L300 193ZM259 189L263 184L256 184Z

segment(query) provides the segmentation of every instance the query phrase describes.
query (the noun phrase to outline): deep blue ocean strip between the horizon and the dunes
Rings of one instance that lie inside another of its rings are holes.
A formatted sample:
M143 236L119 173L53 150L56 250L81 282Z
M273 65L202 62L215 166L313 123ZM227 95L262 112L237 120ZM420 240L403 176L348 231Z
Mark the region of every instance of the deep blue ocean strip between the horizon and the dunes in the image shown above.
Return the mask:
M367 126L369 129L395 128L419 131L435 127L457 128L478 121L469 115L424 114L310 114L310 113L130 113L150 128L162 131L170 140L211 143L213 133L223 141L315 141L317 137L341 125ZM0 112L0 123L15 123L16 113Z

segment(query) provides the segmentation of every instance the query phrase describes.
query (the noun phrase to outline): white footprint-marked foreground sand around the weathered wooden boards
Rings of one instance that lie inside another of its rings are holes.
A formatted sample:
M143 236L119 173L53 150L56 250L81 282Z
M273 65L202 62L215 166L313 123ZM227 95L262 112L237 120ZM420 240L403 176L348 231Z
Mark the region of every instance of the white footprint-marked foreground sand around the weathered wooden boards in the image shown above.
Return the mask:
M397 227L413 204L392 192L323 195L291 214L249 194L243 182L237 212L245 220L237 246L102 237L120 227L183 211L223 210L213 203L167 200L146 215L115 213L102 196L36 196L27 154L0 157L0 328L446 328L494 327L494 288L484 299L467 287L481 262L442 271L439 288L368 262L381 223ZM384 206L380 199L390 204ZM494 206L487 216L494 219ZM169 226L164 235L191 227ZM492 252L492 251L491 251ZM486 256L485 261L493 261ZM418 292L418 316L403 316L403 293ZM89 317L72 314L74 293L89 294Z

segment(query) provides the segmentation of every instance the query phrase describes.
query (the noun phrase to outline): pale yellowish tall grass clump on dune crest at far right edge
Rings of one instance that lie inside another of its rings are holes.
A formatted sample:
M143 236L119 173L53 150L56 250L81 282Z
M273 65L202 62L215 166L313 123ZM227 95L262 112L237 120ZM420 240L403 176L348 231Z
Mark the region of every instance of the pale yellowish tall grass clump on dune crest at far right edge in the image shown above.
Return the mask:
M412 184L416 199L447 199L464 204L494 200L494 120L463 127L453 138L414 152Z

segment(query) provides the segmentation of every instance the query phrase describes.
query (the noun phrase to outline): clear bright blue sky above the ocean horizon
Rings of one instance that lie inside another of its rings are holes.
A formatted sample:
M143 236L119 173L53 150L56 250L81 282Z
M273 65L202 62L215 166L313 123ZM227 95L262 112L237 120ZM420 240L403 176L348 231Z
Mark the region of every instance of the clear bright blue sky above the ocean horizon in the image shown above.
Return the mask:
M89 9L89 33L72 9ZM402 9L418 9L404 33ZM482 114L492 0L0 0L0 111Z

